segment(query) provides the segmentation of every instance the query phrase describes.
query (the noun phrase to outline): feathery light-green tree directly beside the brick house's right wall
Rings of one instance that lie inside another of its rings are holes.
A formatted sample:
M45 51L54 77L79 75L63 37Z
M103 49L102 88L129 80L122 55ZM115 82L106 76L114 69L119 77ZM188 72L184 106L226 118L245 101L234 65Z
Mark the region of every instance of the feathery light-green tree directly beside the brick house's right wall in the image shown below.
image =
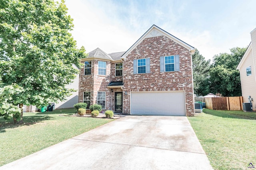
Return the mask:
M198 95L206 95L209 93L210 83L209 70L210 70L210 59L206 60L196 49L192 55L192 66L193 66L193 80L194 80L194 93Z

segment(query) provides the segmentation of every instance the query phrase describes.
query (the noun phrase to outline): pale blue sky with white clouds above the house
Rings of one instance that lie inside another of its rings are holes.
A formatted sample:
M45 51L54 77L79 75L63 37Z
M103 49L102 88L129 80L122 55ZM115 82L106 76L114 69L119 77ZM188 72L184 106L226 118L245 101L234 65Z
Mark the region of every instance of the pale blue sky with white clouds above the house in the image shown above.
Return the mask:
M206 59L247 47L256 0L66 0L72 35L86 52L127 51L153 24L196 47Z

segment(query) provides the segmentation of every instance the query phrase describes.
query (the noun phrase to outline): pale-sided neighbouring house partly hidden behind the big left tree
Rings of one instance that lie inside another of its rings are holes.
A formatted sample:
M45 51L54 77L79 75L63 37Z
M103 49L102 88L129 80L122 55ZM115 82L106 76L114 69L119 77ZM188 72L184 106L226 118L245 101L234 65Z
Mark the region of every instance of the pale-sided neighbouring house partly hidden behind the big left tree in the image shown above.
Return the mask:
M72 65L74 68L79 69L75 64ZM78 103L78 83L79 83L79 74L76 75L76 78L73 80L72 83L66 85L66 88L74 89L76 92L72 92L71 96L68 96L64 101L58 101L55 103L55 109L63 109L63 108L72 108L74 104ZM38 111L36 106L24 106L24 111Z

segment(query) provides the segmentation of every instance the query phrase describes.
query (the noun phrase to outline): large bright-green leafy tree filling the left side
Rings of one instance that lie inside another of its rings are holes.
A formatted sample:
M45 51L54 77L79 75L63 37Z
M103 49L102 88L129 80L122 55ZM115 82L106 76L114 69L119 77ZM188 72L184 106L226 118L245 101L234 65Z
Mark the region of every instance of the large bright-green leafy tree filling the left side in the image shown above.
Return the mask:
M70 95L65 85L78 73L72 64L80 67L86 57L84 47L76 47L72 27L64 1L0 1L0 96L6 104L40 107ZM15 114L8 108L0 115L22 117L21 109L15 107Z

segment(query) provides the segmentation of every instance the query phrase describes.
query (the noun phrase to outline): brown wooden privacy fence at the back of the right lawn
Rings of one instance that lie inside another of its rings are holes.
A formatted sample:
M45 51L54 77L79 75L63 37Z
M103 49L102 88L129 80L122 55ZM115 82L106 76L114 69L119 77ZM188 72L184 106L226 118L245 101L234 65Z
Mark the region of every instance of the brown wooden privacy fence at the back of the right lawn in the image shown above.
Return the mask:
M221 98L205 98L207 109L212 110L242 110L243 97L221 97Z

